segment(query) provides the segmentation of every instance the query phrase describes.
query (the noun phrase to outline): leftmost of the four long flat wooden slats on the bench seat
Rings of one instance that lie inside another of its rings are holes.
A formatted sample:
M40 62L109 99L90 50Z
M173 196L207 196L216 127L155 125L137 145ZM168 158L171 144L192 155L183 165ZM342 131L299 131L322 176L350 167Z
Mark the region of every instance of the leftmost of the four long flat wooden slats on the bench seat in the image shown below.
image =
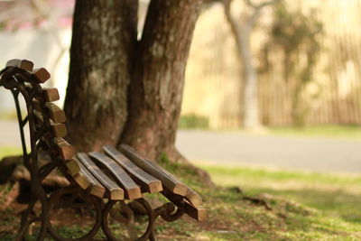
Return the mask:
M112 200L121 200L124 199L124 190L119 188L116 183L112 180L110 180L106 174L104 174L103 171L101 171L97 165L90 160L88 155L86 153L78 153L77 157L79 158L79 161L88 168L88 171L90 171L96 178L97 181L100 181L102 185L106 187L106 190L109 192L108 196L109 199Z

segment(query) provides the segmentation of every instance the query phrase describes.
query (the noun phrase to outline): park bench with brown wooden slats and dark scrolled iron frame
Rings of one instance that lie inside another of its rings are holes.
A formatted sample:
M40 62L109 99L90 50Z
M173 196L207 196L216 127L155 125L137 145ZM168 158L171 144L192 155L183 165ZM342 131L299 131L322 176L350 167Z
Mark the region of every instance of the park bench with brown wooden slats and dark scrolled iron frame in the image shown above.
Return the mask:
M60 99L56 88L42 88L42 83L50 79L47 70L32 70L29 60L9 60L0 71L0 87L10 89L14 96L23 147L23 165L31 176L31 199L22 213L17 240L23 240L28 228L40 222L37 240L52 236L56 240L92 240L102 229L106 240L117 240L108 225L109 212L117 202L134 200L143 207L148 224L143 235L136 240L156 240L154 222L162 217L175 221L183 214L198 221L207 219L207 209L200 207L199 194L179 181L156 162L144 158L128 145L119 150L110 145L103 152L75 153L74 148L63 138L67 134L66 116L54 101ZM19 96L23 96L27 115L22 116ZM30 152L25 142L24 125L29 125ZM51 162L39 162L39 153L47 153ZM69 186L46 193L42 181L54 170L60 170L69 181ZM88 234L76 239L60 236L51 224L50 212L60 197L65 194L81 196L94 206L96 212L94 226ZM144 199L145 193L162 193L167 201L153 209ZM34 216L35 203L41 203L42 211Z

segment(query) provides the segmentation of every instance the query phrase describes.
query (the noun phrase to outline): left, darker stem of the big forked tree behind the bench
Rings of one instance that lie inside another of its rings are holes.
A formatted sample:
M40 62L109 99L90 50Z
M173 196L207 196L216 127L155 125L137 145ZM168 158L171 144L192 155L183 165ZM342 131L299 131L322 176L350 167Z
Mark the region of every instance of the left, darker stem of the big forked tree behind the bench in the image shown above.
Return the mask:
M116 144L127 116L137 1L76 1L65 112L79 151Z

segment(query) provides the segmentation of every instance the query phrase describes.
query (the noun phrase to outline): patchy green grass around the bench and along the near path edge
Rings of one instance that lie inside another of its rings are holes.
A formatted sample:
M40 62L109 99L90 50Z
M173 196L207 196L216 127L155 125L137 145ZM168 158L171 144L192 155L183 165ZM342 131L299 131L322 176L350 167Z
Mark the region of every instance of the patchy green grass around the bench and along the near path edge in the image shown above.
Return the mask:
M19 151L19 148L0 148L0 156ZM187 217L174 223L159 219L156 233L160 240L361 240L360 175L222 167L202 163L200 166L218 185L208 187L195 176L195 170L169 162L165 155L161 163L200 193L209 219L203 223ZM0 186L0 197L4 198L0 199L0 206L12 190L12 185ZM157 197L154 194L145 196L153 201ZM249 197L262 200L266 205L246 199ZM9 232L2 236L0 227L0 240L14 240L15 227L19 222L15 213L13 209L0 211L1 227ZM73 221L79 217L68 218ZM143 230L142 223L143 217L136 218L135 229ZM64 236L81 236L87 230L82 224L80 221L79 224L60 227L59 231ZM114 223L112 227L117 236L123 236L122 226ZM102 236L101 233L98 235ZM34 240L34 237L29 240Z

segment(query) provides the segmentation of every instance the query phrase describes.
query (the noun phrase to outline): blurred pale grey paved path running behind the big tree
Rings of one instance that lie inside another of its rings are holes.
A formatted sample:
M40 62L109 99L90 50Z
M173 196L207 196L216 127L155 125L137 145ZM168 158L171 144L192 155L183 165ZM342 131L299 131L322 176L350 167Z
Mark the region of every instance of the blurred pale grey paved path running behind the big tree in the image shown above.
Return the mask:
M15 122L0 121L0 146L20 146ZM314 137L179 131L176 145L194 161L361 173L361 142Z

